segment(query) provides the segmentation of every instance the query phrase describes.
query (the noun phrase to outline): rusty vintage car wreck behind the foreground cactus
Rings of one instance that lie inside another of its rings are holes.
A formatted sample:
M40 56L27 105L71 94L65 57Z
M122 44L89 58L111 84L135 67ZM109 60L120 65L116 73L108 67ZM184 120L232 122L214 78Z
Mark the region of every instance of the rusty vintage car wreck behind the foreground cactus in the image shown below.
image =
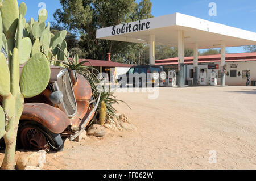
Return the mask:
M20 66L20 72L22 69ZM27 150L62 151L65 138L75 140L84 131L98 102L82 75L51 66L47 88L34 98L24 99L17 145Z

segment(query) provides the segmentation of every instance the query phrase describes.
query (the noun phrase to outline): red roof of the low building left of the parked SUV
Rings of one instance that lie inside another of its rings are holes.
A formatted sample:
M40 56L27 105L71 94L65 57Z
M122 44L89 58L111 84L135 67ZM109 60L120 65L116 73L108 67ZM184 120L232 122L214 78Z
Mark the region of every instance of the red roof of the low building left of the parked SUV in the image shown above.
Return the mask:
M114 68L114 67L125 67L125 68L130 68L131 64L121 64L118 62L112 62L112 61L105 61L105 60L92 60L92 59L79 59L79 62L82 61L89 61L92 66L102 66L102 67L109 67L109 68ZM90 66L90 64L88 62L82 64L85 66Z

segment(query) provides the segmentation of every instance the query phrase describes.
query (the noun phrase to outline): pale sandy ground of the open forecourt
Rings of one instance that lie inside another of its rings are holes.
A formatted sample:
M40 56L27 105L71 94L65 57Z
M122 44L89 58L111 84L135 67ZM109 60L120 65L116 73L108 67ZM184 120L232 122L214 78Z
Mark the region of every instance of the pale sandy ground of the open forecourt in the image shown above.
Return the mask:
M63 152L47 154L46 169L256 169L256 87L115 95L131 106L115 107L137 131L65 141Z

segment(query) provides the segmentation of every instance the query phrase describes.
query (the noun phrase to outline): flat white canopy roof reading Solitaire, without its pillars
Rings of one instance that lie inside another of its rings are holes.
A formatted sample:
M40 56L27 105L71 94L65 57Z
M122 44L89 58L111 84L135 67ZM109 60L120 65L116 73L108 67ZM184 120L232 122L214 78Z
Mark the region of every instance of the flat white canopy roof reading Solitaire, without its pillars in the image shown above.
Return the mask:
M256 45L255 32L180 13L102 28L97 39L149 44L150 35L155 35L156 45L177 47L178 30L184 30L185 48L194 48L195 43L199 49L218 48L221 41L226 47Z

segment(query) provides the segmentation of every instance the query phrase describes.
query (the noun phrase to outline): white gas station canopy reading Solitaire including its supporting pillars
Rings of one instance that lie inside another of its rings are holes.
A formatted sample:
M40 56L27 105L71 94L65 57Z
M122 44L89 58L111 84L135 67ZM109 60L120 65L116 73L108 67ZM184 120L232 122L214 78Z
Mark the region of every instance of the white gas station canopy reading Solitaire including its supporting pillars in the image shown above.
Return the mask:
M102 28L97 30L97 39L149 44L152 65L155 64L155 45L178 47L179 87L185 82L185 48L194 49L194 85L198 82L198 49L221 48L221 86L225 86L226 47L256 45L255 32L180 13Z

